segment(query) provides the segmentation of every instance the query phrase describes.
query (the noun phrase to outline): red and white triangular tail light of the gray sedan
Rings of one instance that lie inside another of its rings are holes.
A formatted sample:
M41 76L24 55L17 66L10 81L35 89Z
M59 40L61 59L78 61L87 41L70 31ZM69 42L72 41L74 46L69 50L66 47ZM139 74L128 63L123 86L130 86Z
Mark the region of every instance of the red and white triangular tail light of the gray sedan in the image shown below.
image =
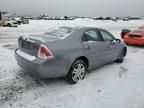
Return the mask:
M53 54L46 46L41 45L38 51L38 57L42 59L49 59L53 57Z

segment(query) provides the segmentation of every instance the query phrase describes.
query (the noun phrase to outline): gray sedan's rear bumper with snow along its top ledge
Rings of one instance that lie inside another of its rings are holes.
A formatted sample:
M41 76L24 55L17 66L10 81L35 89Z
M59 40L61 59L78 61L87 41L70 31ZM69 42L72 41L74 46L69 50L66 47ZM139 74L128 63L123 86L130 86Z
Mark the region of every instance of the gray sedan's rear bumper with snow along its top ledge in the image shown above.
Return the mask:
M15 58L17 64L23 68L26 72L30 72L41 78L63 77L67 74L68 70L64 68L64 65L59 65L55 59L50 60L28 60L15 51Z

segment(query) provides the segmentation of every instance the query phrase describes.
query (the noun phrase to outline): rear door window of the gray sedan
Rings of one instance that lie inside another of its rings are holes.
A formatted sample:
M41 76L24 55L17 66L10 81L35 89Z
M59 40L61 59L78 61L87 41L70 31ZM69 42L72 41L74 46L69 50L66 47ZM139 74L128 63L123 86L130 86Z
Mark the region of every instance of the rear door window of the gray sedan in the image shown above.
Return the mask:
M100 41L100 37L97 31L86 31L82 37L82 41Z

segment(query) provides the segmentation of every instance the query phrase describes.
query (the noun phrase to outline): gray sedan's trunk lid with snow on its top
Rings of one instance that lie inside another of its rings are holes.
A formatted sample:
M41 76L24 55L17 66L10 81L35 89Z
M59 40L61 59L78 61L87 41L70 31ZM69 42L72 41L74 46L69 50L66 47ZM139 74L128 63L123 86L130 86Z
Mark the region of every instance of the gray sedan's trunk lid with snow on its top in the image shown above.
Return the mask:
M21 36L18 39L18 47L21 51L37 57L38 50L42 44L56 40L59 40L59 38L50 36L44 37L43 35L30 35L27 37Z

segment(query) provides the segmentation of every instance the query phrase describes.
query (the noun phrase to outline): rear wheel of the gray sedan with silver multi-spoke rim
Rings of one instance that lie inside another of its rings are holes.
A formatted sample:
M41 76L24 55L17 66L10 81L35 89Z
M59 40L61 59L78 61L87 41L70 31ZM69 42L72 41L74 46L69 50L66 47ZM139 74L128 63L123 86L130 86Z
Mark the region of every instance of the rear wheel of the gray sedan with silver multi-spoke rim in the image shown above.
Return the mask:
M67 75L67 81L70 84L76 84L80 80L83 80L85 77L85 74L87 72L87 65L83 60L76 60Z

